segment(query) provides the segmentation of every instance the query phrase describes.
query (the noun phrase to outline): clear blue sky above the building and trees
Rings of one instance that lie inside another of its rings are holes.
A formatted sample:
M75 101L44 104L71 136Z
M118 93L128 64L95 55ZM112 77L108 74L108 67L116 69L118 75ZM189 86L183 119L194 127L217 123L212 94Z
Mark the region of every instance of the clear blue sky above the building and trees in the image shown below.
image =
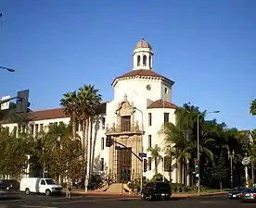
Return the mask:
M0 12L0 66L17 69L0 71L0 96L30 89L32 109L54 108L64 92L93 83L111 100L112 80L132 69L144 37L154 71L175 81L174 104L256 127L255 0L1 0Z

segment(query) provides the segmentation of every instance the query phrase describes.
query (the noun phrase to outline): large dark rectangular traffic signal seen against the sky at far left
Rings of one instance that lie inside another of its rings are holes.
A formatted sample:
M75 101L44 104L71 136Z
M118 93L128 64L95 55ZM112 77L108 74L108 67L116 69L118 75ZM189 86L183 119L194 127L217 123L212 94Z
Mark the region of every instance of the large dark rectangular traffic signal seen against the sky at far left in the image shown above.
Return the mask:
M17 94L16 112L27 113L29 107L29 90L19 91Z

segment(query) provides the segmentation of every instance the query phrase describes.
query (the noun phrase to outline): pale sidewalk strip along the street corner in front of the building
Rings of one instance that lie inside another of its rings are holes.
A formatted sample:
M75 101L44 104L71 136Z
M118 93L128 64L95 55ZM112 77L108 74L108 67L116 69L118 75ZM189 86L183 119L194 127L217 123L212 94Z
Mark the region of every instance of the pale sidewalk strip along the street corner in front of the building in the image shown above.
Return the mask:
M202 196L212 196L212 195L221 195L226 194L227 191L219 191L219 192L201 192L200 197ZM113 193L113 192L107 192L102 190L88 190L88 192L85 192L84 190L72 190L71 194L79 194L79 195L94 195L94 196L125 196L125 197L140 197L140 195L137 194L129 194L129 193ZM197 192L173 192L172 197L182 197L182 198L188 198L188 197L198 197Z

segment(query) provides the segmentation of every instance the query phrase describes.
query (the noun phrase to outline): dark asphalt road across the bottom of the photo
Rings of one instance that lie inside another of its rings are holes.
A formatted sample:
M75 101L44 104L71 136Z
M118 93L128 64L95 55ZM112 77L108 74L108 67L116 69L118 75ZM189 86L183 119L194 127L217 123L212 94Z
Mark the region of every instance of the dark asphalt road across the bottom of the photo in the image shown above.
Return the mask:
M21 196L19 200L0 202L0 208L219 208L230 206L232 208L255 207L255 203L241 203L230 201L222 196L173 198L171 201L149 202L136 197L105 197L105 196L73 196L67 200L64 197L46 197L40 195Z

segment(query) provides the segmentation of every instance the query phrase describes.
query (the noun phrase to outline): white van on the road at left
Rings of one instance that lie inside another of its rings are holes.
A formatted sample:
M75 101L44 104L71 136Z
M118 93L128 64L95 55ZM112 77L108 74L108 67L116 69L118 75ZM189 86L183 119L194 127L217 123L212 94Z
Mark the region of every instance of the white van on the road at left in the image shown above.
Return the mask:
M52 178L23 177L19 183L19 190L27 195L30 193L45 193L50 196L53 193L61 193L62 186L58 185Z

